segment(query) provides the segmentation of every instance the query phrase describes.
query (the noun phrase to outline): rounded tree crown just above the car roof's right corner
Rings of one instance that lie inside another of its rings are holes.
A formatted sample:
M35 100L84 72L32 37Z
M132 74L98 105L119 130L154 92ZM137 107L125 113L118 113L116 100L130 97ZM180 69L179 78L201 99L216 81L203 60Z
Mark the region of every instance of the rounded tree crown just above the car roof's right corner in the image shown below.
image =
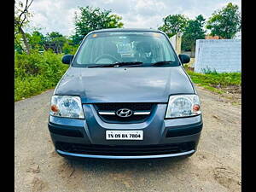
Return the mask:
M164 25L159 27L159 30L166 32L169 37L177 34L177 32L183 32L185 26L187 26L188 18L184 15L168 15L163 18Z

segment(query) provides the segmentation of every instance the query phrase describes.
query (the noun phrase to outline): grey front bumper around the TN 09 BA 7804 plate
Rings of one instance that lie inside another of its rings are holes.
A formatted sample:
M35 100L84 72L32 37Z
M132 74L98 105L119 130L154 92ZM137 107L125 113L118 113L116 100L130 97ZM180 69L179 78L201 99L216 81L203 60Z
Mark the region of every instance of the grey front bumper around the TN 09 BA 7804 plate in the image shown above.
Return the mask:
M84 119L49 115L49 132L62 156L100 159L148 159L194 154L201 136L201 115L164 119L166 104L139 124L108 124L92 105L84 105ZM164 119L164 120L163 120ZM142 130L143 140L106 140L108 130Z

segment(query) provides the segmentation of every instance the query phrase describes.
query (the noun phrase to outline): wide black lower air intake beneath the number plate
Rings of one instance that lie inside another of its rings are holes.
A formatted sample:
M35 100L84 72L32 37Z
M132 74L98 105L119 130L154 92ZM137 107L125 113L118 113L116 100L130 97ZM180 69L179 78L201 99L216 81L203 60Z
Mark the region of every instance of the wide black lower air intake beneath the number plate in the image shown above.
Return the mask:
M55 143L57 149L74 154L96 154L96 155L156 155L177 154L195 149L194 142L172 143L161 145L85 145L78 143Z

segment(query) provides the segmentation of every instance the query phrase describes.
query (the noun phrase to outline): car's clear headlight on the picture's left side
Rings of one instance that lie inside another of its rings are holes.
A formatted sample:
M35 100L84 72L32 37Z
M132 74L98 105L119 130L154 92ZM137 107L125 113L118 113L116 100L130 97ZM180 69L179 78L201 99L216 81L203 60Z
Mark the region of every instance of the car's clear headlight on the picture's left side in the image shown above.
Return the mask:
M50 114L58 117L84 119L79 96L52 96Z

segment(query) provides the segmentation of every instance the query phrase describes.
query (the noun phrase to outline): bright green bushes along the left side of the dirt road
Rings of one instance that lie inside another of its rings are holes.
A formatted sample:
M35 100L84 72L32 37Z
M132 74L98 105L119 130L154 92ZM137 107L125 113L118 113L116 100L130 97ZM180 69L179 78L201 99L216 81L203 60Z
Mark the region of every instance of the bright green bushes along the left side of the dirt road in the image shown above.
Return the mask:
M15 53L15 101L53 88L67 71L61 57L50 50L44 54L38 50L30 55Z

